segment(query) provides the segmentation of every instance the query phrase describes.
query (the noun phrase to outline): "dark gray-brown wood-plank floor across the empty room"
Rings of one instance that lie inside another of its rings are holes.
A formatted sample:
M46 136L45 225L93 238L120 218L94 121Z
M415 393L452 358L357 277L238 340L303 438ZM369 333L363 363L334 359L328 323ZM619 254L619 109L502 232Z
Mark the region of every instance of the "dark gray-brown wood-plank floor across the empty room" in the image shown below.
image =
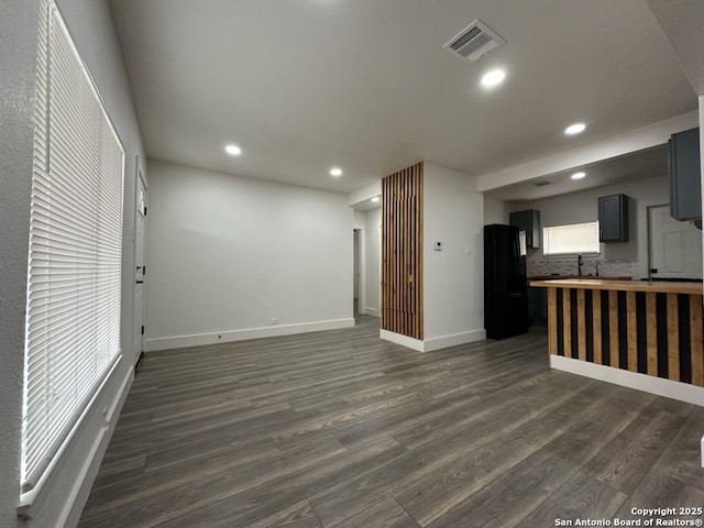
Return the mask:
M80 528L492 527L704 504L704 408L548 367L542 332L355 328L150 353Z

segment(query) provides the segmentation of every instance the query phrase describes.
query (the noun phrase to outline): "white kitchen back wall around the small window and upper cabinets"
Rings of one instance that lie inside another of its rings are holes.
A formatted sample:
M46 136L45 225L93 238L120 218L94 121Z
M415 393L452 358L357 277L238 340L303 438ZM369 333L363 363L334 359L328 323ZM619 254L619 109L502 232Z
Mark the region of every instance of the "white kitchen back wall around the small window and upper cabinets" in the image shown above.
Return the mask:
M647 278L648 207L670 202L667 175L570 193L541 200L509 204L509 210L538 209L542 227L593 222L598 219L598 197L614 194L624 194L630 198L629 241L601 244L600 260L622 261L625 264L625 267L622 266L622 268L631 270L634 278ZM529 251L528 258L529 261L542 258L542 249ZM590 263L586 265L591 266ZM574 260L574 272L576 272L576 260ZM592 273L592 270L588 267L584 272ZM605 274L602 271L600 273Z

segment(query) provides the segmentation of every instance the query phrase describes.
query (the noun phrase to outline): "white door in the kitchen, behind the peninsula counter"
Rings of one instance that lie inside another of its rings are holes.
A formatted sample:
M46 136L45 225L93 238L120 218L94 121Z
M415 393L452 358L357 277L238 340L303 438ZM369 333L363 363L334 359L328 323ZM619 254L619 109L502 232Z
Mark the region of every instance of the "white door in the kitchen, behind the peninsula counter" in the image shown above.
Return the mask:
M670 216L670 206L648 208L650 278L702 278L702 231Z

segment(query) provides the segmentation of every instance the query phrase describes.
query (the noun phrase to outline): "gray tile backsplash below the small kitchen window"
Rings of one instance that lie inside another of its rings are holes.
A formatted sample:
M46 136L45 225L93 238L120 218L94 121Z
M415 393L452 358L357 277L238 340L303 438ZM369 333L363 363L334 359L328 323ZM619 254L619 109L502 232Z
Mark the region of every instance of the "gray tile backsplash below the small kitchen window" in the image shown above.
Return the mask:
M531 254L532 253L532 254ZM601 276L632 277L635 261L619 261L610 258L597 258L584 256L582 264L582 275L595 275L596 262L598 262L598 274ZM528 250L526 257L526 271L528 276L537 275L576 275L578 257L573 256L544 256L538 251Z

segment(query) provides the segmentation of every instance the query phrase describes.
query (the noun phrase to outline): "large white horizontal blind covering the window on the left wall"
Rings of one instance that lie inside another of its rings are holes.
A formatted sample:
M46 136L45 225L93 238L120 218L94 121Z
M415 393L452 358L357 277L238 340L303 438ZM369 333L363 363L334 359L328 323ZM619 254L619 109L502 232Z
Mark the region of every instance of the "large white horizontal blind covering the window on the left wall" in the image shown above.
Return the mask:
M124 152L53 1L35 109L22 488L120 355Z

